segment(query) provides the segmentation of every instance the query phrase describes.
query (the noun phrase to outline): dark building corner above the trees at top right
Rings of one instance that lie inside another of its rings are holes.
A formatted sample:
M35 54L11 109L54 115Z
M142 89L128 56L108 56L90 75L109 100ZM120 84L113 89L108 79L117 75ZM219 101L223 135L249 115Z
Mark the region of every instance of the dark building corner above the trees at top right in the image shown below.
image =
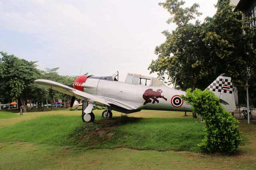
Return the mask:
M234 11L240 10L243 13L242 18L256 17L256 0L230 0L230 4L236 6ZM255 25L255 21L250 22L250 27Z

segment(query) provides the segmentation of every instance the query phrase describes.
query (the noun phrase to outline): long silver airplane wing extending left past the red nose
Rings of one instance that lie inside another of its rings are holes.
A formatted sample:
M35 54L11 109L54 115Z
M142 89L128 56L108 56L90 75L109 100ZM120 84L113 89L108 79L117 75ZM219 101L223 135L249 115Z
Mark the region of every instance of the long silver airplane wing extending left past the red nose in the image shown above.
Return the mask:
M66 85L63 85L61 83L57 83L55 81L38 79L38 80L35 80L34 82L37 83L37 84L40 84L44 87L48 87L49 89L53 89L53 90L59 91L61 93L65 93L67 95L74 96L78 99L88 101L88 102L93 103L95 105L102 105L103 104L103 105L110 106L108 104L108 102L105 99L102 99L101 97L91 95L91 94L86 93L84 91L80 91L80 90L74 89L72 87L68 87Z

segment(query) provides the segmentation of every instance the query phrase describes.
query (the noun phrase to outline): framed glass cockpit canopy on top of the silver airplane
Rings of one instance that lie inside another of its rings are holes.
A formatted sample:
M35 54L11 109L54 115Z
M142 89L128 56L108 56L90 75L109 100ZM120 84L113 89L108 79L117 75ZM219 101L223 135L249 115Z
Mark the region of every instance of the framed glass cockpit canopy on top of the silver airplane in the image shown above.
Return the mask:
M134 73L127 74L125 83L131 83L136 85L146 85L146 86L153 86L153 87L164 85L164 83L162 83L157 78L148 77L140 74L134 74Z

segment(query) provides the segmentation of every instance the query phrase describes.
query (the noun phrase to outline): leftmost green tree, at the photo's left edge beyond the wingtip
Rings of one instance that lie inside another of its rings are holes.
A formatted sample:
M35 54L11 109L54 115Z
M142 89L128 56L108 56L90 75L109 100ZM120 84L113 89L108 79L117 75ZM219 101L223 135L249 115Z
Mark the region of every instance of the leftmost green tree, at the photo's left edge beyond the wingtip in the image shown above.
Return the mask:
M26 101L37 90L34 84L40 76L36 61L26 61L14 55L0 52L0 91L4 101L20 99L23 111L26 112Z

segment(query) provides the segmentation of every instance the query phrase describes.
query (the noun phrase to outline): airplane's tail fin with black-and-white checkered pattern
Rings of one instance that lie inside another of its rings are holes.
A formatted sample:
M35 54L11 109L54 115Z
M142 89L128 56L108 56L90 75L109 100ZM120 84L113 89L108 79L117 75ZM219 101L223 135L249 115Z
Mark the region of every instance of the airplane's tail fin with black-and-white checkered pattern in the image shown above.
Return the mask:
M222 107L226 111L232 113L236 110L233 85L229 75L226 73L221 74L207 89L220 98L220 103L222 103Z

